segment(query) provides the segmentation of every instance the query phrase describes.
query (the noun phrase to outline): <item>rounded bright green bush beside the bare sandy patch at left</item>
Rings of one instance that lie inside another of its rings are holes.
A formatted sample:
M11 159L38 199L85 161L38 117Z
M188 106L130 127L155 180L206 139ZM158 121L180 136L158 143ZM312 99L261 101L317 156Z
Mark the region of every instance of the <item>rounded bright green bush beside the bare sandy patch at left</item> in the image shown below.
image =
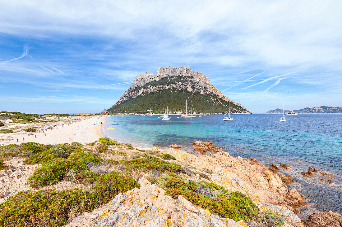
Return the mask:
M27 183L31 187L43 187L52 185L63 179L63 173L68 169L69 163L66 159L57 158L49 163L44 163L36 169Z

